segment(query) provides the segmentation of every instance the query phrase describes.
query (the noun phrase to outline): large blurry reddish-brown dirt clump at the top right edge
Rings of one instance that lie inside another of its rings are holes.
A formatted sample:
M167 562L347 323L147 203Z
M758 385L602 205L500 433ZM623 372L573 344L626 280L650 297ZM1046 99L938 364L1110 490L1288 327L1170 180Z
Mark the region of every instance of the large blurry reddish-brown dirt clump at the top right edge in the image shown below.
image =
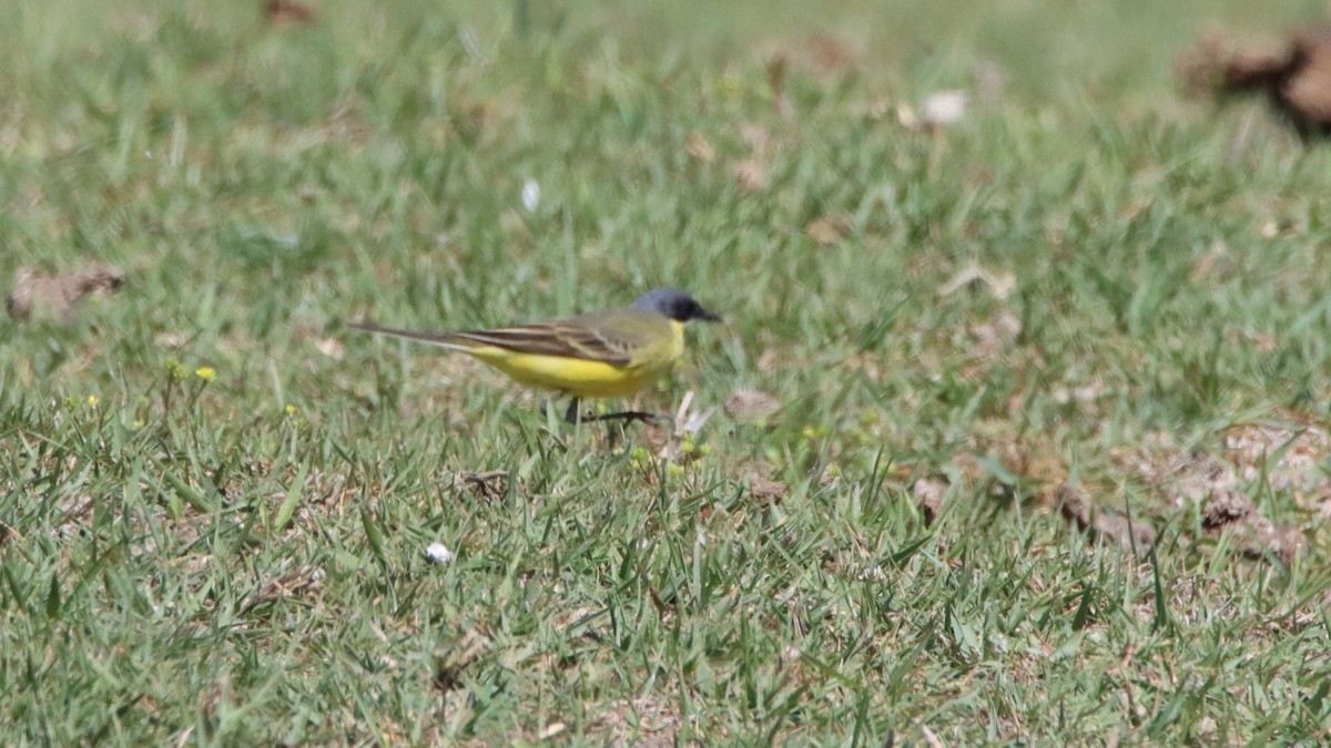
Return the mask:
M1300 29L1282 48L1243 49L1213 32L1178 64L1186 89L1264 94L1303 136L1331 134L1331 29Z

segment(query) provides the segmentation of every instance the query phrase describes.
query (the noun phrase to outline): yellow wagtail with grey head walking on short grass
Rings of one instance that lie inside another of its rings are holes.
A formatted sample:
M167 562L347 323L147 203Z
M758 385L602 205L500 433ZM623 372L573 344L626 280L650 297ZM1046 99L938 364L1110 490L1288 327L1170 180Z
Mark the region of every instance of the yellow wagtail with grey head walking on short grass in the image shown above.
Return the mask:
M627 309L492 330L433 334L369 323L350 326L461 350L523 385L571 395L564 419L576 423L582 398L627 397L668 374L684 353L684 323L693 319L721 318L684 291L655 289ZM584 421L611 418L644 421L655 415L626 411Z

